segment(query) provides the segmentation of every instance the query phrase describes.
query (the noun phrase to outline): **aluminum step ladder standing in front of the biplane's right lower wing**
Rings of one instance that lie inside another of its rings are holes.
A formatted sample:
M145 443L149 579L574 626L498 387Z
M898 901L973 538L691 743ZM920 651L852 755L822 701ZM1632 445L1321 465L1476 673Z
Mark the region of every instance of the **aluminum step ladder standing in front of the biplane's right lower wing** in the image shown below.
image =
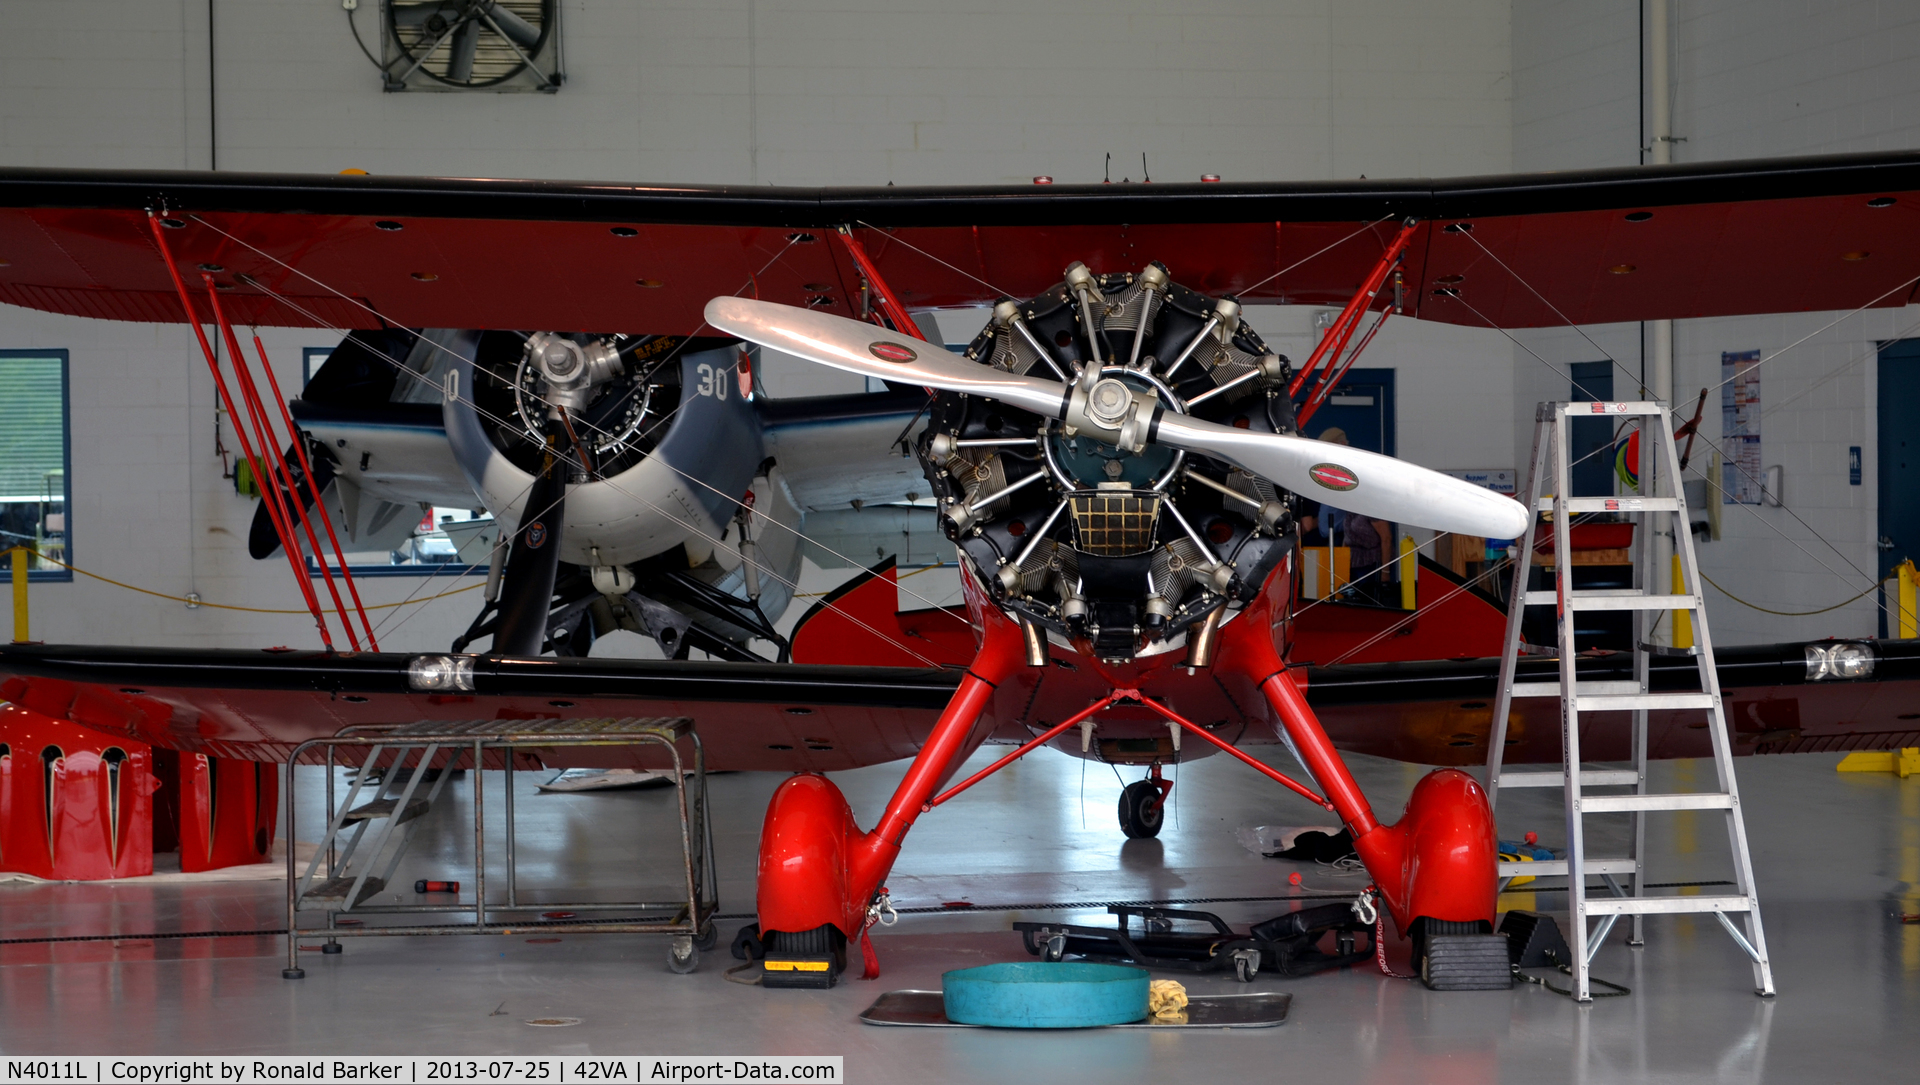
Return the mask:
M1640 494L1622 497L1569 497L1572 463L1569 432L1574 419L1607 419L1640 422ZM1494 726L1486 755L1488 801L1498 803L1509 787L1563 787L1567 799L1567 858L1551 862L1501 862L1500 878L1517 876L1567 878L1569 949L1572 951L1574 997L1592 1001L1588 970L1594 954L1613 933L1620 916L1632 916L1630 945L1644 939L1642 918L1649 914L1713 912L1726 933L1753 962L1755 993L1770 997L1774 976L1766 960L1766 935L1761 929L1761 903L1753 891L1753 856L1747 849L1747 826L1740 814L1740 787L1734 782L1734 751L1726 730L1726 709L1720 699L1720 678L1713 663L1713 641L1707 636L1707 611L1699 591L1699 565L1693 555L1693 534L1688 526L1686 494L1680 484L1680 457L1674 447L1672 421L1661 403L1542 403L1534 415L1534 451L1523 497L1536 513L1551 513L1553 590L1528 591L1534 565L1534 545L1540 517L1532 517L1515 563L1513 591L1507 605L1507 639L1500 657L1500 689L1494 699ZM1636 524L1634 584L1636 588L1574 590L1572 588L1572 530L1580 517L1611 515ZM1670 534L1680 557L1682 584L1672 595L1657 595L1653 586L1655 538ZM1519 657L1524 649L1521 618L1528 605L1555 607L1559 680L1517 680ZM1574 655L1574 615L1586 611L1630 611L1634 636L1634 678L1613 682L1578 682ZM1657 647L1651 630L1661 611L1690 615L1693 647ZM1649 670L1653 655L1690 655L1699 670L1697 691L1651 691ZM1501 772L1507 718L1515 697L1559 697L1561 757L1559 772ZM1647 712L1692 711L1707 714L1707 734L1713 737L1715 789L1699 793L1647 791ZM1596 770L1580 760L1582 712L1632 714L1632 768ZM1594 795L1601 787L1609 793ZM1628 787L1620 793L1619 787ZM1734 891L1715 897L1647 895L1645 889L1645 816L1663 810L1722 810L1734 858ZM1586 816L1628 814L1632 835L1628 855L1592 858L1586 855ZM1611 889L1609 897L1588 897L1588 876L1599 876ZM1624 881L1624 887L1622 887ZM1736 918L1740 920L1736 924ZM1588 928L1588 920L1597 920Z

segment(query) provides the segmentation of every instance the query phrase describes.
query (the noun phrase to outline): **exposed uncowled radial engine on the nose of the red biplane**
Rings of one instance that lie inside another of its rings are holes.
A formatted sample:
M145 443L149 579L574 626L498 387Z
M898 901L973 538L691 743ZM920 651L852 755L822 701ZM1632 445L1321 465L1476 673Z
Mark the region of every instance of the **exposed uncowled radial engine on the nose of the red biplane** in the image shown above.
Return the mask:
M1110 661L1175 651L1252 601L1292 545L1290 494L1150 442L1131 411L1129 390L1169 415L1294 434L1292 365L1233 298L1188 290L1160 263L1075 263L1052 290L1000 301L966 357L1075 388L1066 419L941 392L916 449L947 536L1052 639ZM1087 419L1119 426L1119 444L1073 424Z

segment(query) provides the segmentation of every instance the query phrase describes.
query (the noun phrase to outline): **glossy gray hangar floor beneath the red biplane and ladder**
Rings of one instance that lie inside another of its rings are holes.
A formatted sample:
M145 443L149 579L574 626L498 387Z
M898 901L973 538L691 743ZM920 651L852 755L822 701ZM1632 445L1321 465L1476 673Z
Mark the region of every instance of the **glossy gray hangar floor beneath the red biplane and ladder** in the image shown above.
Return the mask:
M1284 755L1281 755L1284 757ZM1354 759L1382 816L1398 814L1421 768ZM876 937L883 977L831 991L728 983L724 945L699 972L664 968L645 935L409 937L301 952L307 977L280 977L278 937L125 939L0 947L0 1050L48 1054L843 1054L851 1081L1841 1081L1905 1079L1920 1058L1920 778L1836 774L1837 757L1747 759L1741 791L1755 841L1778 999L1751 993L1745 958L1709 918L1651 918L1647 945L1615 937L1596 974L1634 989L1576 1006L1519 987L1432 993L1371 968L1302 979L1292 1018L1258 1031L1016 1033L887 1029L856 1014L887 989L937 989L939 976L1023 960L1016 920L1098 910L910 914ZM983 764L985 759L975 759ZM319 814L317 770L301 770L303 824ZM1325 868L1260 858L1235 841L1258 824L1317 824L1317 808L1227 759L1179 772L1158 841L1123 841L1110 768L1041 753L922 818L891 878L902 906L1114 899L1279 897L1357 889ZM839 774L862 824L900 766ZM1137 776L1135 770L1129 780ZM1657 766L1657 782L1705 787L1711 762ZM582 899L637 893L678 833L660 791L540 795L518 774L520 883ZM1692 782L1690 782L1692 780ZM722 912L753 908L755 841L770 774L712 780ZM470 878L470 778L422 826L397 881ZM488 776L499 810L499 774ZM1085 799L1083 799L1085 795ZM1557 793L1509 793L1503 835L1557 845ZM301 835L309 835L301 832ZM1605 853L1607 835L1590 833ZM1661 881L1726 876L1718 814L1665 814L1649 830ZM490 868L503 855L490 849ZM1302 889L1288 874L1302 874ZM1707 889L1709 893L1713 889ZM276 883L0 885L0 937L261 929L284 920ZM530 893L532 895L532 889ZM1501 906L1555 910L1555 893L1509 893ZM1236 924L1281 903L1219 904ZM732 937L739 922L724 924ZM315 945L315 939L305 939ZM1242 991L1229 977L1183 977L1194 993ZM572 1016L574 1027L530 1027ZM1901 1070L1907 1066L1908 1070Z

